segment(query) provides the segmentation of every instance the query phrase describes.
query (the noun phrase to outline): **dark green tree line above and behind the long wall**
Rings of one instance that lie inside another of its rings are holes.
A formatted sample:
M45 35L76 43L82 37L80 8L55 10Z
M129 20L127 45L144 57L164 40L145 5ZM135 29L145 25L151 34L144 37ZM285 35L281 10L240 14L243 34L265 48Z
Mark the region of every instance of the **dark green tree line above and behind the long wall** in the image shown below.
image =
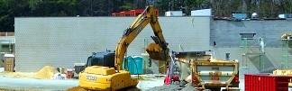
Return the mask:
M14 32L14 17L109 16L114 12L143 9L149 0L0 0L0 31ZM291 14L292 0L154 0L160 15L166 11L212 8L214 16L232 12L258 13L260 18Z

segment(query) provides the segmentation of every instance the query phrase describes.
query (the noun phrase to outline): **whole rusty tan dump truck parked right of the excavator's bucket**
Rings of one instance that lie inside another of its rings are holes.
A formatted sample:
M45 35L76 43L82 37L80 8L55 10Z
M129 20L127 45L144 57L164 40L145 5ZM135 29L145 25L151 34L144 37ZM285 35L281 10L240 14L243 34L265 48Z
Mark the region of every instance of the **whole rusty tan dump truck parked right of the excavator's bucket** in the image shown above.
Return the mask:
M197 89L220 91L239 90L239 62L237 59L214 59L205 51L186 51L175 54L175 59L189 65L191 83Z

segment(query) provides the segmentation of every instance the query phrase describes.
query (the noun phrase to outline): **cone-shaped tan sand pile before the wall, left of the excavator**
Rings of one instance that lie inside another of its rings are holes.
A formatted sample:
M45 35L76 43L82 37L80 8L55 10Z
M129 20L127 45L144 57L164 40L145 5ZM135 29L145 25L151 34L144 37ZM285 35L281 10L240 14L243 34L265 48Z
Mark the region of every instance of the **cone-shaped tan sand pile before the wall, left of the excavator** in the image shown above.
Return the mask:
M55 73L58 73L56 68L53 68L50 66L45 66L45 67L41 68L41 70L36 72L34 77L40 78L40 79L50 79L51 77L54 76Z

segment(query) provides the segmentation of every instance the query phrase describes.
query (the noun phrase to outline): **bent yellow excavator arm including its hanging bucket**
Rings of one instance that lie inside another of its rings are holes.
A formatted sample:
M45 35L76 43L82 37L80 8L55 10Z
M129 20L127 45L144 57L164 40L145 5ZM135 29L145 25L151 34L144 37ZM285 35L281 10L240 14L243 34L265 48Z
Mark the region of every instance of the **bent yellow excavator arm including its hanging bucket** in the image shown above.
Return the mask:
M123 32L123 37L118 41L118 45L115 48L114 66L117 70L122 69L123 57L129 46L129 44L137 37L137 35L148 25L151 24L151 28L155 36L151 36L155 43L151 43L147 52L150 54L151 59L167 60L169 55L168 44L165 41L158 16L155 13L154 6L147 6L142 14L139 14L129 28Z

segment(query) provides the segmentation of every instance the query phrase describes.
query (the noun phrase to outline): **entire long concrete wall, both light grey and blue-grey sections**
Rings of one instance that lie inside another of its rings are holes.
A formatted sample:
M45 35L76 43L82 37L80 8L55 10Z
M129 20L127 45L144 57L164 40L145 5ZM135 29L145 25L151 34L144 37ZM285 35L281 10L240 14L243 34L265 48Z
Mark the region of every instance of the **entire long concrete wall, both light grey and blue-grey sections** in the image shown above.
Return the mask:
M16 71L36 71L45 65L70 68L74 62L85 62L91 52L114 50L132 21L133 17L15 18ZM281 34L292 31L291 21L160 17L160 24L170 50L214 50L218 59L225 59L225 53L231 53L231 59L240 61L241 74L292 68L289 62L292 60L283 58L291 55L292 50L281 48L279 40ZM250 41L252 48L242 47L242 32L256 33L255 40ZM151 27L147 26L130 45L128 55L140 55L151 42L151 35ZM265 53L261 54L260 37L266 43Z

